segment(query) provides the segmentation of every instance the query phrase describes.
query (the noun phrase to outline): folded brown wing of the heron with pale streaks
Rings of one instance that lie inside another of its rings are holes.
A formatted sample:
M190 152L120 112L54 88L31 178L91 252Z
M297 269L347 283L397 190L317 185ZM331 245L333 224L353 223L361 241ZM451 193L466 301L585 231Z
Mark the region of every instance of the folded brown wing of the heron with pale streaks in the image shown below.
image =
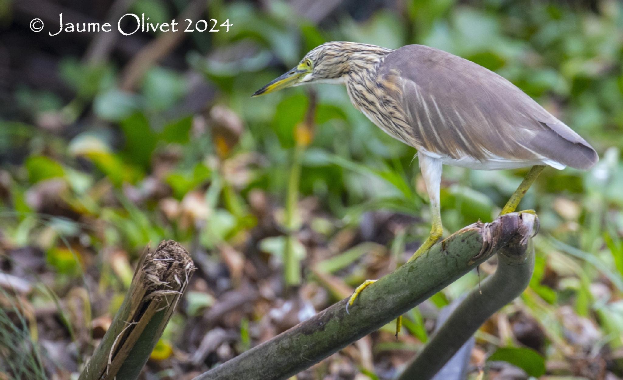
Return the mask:
M402 105L416 148L480 161L549 159L591 168L597 153L571 128L500 75L423 45L389 54L378 74Z

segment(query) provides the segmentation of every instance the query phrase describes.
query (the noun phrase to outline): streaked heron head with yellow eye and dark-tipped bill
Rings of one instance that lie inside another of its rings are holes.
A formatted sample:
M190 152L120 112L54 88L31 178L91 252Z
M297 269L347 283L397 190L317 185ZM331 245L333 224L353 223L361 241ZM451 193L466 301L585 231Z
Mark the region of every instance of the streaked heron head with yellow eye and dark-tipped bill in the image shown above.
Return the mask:
M343 83L351 69L365 69L378 62L379 54L391 52L383 47L356 42L326 42L310 50L296 67L289 70L252 96L275 92L307 83Z

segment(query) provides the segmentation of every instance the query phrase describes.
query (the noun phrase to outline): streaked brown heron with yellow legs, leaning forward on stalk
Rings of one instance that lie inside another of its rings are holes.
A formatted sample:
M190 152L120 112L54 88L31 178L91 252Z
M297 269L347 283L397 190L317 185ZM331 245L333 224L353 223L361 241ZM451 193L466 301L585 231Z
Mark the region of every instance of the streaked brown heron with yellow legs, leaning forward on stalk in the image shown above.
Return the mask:
M507 214L515 211L545 166L589 169L597 162L589 143L513 83L432 47L407 45L392 50L327 42L253 96L307 83L345 84L355 108L418 151L432 229L409 261L442 235L439 186L443 164L481 170L532 166L503 207L502 214ZM373 282L361 284L348 305Z

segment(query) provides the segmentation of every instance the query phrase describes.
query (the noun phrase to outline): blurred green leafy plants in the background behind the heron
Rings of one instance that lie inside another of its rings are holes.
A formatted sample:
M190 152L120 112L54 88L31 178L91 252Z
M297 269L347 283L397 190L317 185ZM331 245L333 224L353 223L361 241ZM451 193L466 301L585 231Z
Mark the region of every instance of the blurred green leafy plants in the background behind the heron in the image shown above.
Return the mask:
M137 1L133 11L170 19L163 3ZM375 250L365 244L386 247L372 256L395 267L428 233L416 151L373 126L342 87L316 87L312 141L303 148L297 130L310 104L306 90L250 95L329 40L426 44L508 78L601 157L588 172L547 169L521 204L540 216L535 274L521 300L500 315L536 321L543 342L516 331L504 340L498 336L504 326L492 321L479 332L479 347L532 376L543 374L546 363L601 353L608 371L622 376L616 350L623 346L623 2L596 4L592 11L564 1L406 0L399 11L383 8L357 21L336 12L316 26L282 1L261 9L247 1L211 1L208 14L233 22L230 32L188 36L189 71L151 67L136 92L117 87L123 69L117 60L88 65L62 57L57 75L72 97L21 85L12 93L14 115L0 116L0 252L45 252L46 270L54 273L48 285L62 294L95 266L90 292L110 294L123 292L123 265L146 245L174 239L208 258L204 275L210 265L225 265L218 297L239 287L242 277L239 256L224 254L227 247L277 268L290 247L305 264L303 282L328 288L330 301L344 297L344 287L376 273L365 267L371 261L362 258ZM196 96L197 73L216 95L189 113L183 106ZM292 181L297 166L298 181ZM491 221L525 173L445 167L445 233ZM295 195L290 206L288 194ZM409 222L386 226L374 219L383 212ZM371 229L389 230L390 238L374 237L366 232ZM359 241L336 243L348 234ZM317 254L318 245L330 255ZM110 259L112 251L123 252L125 261ZM345 282L336 285L336 278ZM470 273L430 305L445 306L477 283ZM34 293L31 302L47 300L42 297ZM215 303L201 288L186 298L188 316ZM240 317L237 349L257 342L250 334L262 317ZM426 341L430 325L424 323L434 316L414 310L405 319L409 338L393 348ZM181 330L184 323L175 321L169 327ZM155 360L169 358L171 344L184 349L175 335L165 336Z

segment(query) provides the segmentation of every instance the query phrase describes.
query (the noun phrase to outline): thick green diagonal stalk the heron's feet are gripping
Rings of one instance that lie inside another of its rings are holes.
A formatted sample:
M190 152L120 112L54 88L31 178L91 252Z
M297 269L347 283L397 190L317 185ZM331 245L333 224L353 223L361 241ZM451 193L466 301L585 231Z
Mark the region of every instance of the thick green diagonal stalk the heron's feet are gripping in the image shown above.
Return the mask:
M534 221L513 213L465 227L366 288L350 315L341 300L194 380L287 379L411 310L498 250L523 252Z

